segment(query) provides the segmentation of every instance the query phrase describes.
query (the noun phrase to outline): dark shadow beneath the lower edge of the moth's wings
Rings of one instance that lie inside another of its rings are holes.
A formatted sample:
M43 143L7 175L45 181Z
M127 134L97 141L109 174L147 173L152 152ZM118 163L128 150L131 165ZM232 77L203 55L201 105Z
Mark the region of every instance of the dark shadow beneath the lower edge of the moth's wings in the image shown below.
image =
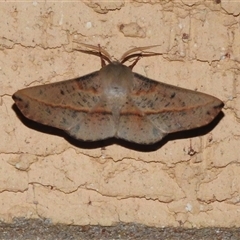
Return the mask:
M187 138L194 138L194 137L199 137L207 134L208 132L212 131L215 126L221 121L221 119L224 117L223 112L220 112L218 116L208 125L200 127L200 128L195 128L192 130L186 130L186 131L181 131L181 132L176 132L176 133L171 133L164 137L161 141L156 142L154 144L150 145L144 145L144 144L137 144L133 142L128 142L122 139L117 139L117 138L109 138L105 140L99 140L99 141L82 141L82 140L77 140L69 136L66 132L64 132L61 129L50 127L47 125L43 125L41 123L34 122L28 118L26 118L21 111L17 108L17 106L14 104L13 105L13 110L15 111L16 115L18 118L21 120L21 122L28 128L49 134L49 135L55 135L64 138L66 141L68 141L71 145L78 147L78 148L83 148L83 149L96 149L96 148L105 148L107 146L117 144L122 147L134 150L134 151L140 151L140 152L152 152L156 151L159 148L163 147L168 141L174 141L176 139L187 139Z

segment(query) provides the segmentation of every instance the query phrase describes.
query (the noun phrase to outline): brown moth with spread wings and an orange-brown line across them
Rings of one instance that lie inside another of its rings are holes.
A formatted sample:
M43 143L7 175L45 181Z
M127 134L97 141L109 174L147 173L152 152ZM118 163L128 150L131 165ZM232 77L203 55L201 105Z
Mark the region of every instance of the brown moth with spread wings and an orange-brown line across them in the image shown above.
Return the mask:
M91 49L85 52L101 57L103 67L76 79L17 91L13 99L25 117L79 140L115 137L153 144L169 133L207 125L224 105L213 96L132 72L144 55L133 52L149 47L132 49L120 61L111 61L100 46L84 46ZM130 67L123 65L132 57L138 58Z

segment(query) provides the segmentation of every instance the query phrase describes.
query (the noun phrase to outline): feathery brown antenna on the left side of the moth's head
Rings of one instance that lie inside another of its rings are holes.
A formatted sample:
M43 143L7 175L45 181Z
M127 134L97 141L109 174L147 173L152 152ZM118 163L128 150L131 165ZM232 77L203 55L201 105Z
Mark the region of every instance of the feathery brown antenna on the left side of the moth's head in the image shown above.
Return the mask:
M94 46L94 45L86 44L86 43L79 43L79 42L77 42L77 43L80 44L80 45L83 45L84 47L89 48L89 49L91 49L93 51L91 51L91 50L84 50L84 49L76 49L76 50L78 50L80 52L84 52L84 53L93 54L93 55L96 55L96 56L100 57L102 66L106 65L104 60L106 62L108 62L108 63L112 62L110 54L106 50L104 50L100 46L100 44L98 44L98 46Z

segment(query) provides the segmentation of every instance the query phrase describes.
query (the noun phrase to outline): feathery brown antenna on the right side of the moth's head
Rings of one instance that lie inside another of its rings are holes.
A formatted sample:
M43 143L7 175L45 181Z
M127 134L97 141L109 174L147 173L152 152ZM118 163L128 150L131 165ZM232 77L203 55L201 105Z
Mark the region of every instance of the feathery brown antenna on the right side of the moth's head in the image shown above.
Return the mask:
M153 47L157 47L157 46L160 46L160 45L132 48L122 55L122 57L120 58L120 62L124 63L124 62L128 61L129 59L138 57L138 56L144 57L144 56L161 55L161 53L144 52L144 50L147 50L147 49L153 48ZM139 53L136 53L136 52L139 52Z

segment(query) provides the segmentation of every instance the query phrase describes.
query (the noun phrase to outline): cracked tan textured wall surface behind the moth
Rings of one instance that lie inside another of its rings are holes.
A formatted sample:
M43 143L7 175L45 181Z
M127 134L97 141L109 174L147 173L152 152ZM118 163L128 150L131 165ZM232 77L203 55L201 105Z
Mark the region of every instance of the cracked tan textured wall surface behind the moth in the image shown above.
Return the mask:
M239 227L240 5L219 2L0 3L0 220ZM77 142L23 118L18 89L100 69L76 41L115 58L158 44L134 71L214 95L223 114L146 148Z

